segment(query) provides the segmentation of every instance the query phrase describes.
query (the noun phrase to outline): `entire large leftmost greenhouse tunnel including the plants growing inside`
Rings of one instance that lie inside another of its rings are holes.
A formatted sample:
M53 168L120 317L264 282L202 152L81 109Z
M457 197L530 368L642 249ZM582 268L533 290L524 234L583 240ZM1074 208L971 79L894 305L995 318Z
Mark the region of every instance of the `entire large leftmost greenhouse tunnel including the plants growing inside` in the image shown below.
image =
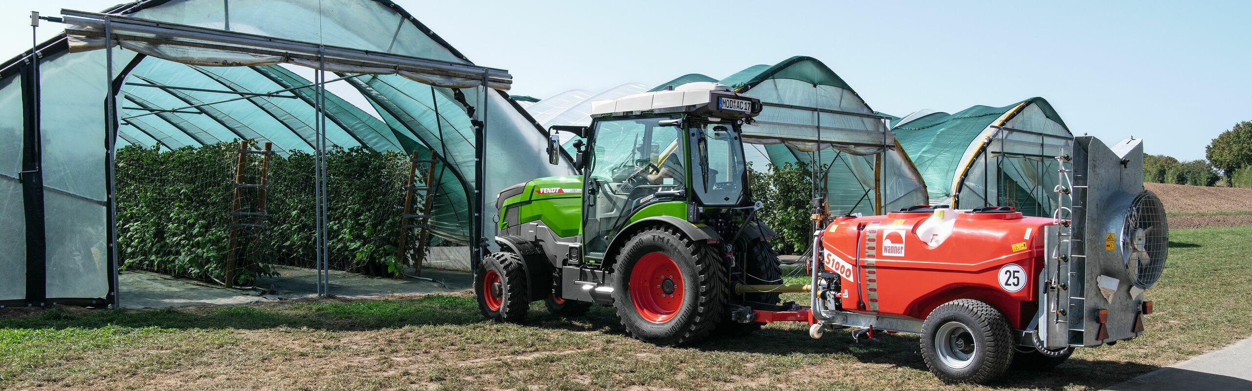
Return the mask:
M269 263L389 256L398 273L418 241L468 263L493 246L485 194L572 173L547 164L507 71L388 0L150 0L44 20L65 33L0 64L0 305L116 305L119 267L229 286Z

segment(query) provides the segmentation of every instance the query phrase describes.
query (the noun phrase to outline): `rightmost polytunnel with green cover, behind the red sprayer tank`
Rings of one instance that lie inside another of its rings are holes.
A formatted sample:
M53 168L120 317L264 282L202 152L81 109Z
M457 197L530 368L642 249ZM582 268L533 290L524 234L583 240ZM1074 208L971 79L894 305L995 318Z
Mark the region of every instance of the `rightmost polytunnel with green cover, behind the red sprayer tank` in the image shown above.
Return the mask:
M1073 134L1043 98L955 114L920 110L891 124L926 182L930 203L1007 206L1027 216L1055 209L1054 158L1072 148Z

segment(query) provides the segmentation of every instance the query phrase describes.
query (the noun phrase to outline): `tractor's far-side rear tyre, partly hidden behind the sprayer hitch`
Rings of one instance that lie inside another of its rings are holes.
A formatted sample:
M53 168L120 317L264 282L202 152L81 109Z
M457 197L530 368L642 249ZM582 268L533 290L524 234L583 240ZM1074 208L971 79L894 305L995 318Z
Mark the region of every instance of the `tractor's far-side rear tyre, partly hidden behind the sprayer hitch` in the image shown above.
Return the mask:
M742 281L736 281L745 284L781 284L782 283L782 263L779 262L779 254L774 252L769 242L765 241L751 241L747 243L747 257L744 259L742 266L736 266L736 268L742 267ZM744 293L735 295L734 283L726 284L726 295L730 296L730 302L740 306L749 306L751 303L762 303L767 306L777 306L780 298L779 293ZM716 333L724 336L746 336L761 330L765 323L760 322L747 322L740 323L730 320L730 316L722 316L721 322L717 323Z

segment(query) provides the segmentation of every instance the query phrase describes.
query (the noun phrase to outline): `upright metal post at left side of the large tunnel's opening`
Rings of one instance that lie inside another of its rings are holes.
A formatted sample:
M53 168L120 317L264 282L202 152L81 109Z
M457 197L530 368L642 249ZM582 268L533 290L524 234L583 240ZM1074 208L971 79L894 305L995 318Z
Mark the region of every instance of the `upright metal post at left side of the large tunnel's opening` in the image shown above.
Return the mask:
M116 143L118 143L118 104L113 95L113 23L109 16L104 18L104 148L105 148L105 177L108 183L108 209L109 209L109 292L113 308L121 308L121 297L118 286L118 193L116 193ZM36 56L38 61L38 56Z

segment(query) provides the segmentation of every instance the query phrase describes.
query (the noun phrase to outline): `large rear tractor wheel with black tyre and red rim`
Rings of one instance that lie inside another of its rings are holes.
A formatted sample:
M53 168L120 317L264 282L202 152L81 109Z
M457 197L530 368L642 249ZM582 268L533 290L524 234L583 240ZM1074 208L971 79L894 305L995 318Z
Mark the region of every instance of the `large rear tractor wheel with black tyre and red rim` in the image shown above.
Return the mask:
M626 332L656 345L697 342L726 303L726 269L715 251L654 227L631 237L613 264L613 307Z

